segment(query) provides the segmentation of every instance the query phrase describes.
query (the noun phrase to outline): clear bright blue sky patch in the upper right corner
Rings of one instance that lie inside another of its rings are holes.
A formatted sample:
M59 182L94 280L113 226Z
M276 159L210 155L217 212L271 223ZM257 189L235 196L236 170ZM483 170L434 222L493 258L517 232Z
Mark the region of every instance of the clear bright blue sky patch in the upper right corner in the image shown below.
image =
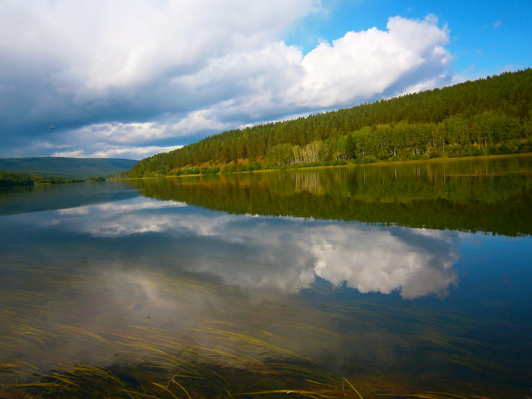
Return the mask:
M532 2L394 0L322 2L325 15L312 14L286 32L287 44L311 51L319 39L332 41L349 30L386 28L390 16L423 19L434 14L450 30L447 48L457 76L477 79L532 65Z

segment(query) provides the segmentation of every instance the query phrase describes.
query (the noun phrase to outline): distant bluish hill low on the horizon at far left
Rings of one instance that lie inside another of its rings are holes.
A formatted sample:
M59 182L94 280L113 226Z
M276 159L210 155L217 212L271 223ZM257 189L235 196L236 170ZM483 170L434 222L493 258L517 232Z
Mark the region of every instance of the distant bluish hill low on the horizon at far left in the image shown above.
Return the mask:
M0 158L0 172L29 173L39 176L81 178L108 177L131 169L138 161L115 158L65 158L39 156Z

